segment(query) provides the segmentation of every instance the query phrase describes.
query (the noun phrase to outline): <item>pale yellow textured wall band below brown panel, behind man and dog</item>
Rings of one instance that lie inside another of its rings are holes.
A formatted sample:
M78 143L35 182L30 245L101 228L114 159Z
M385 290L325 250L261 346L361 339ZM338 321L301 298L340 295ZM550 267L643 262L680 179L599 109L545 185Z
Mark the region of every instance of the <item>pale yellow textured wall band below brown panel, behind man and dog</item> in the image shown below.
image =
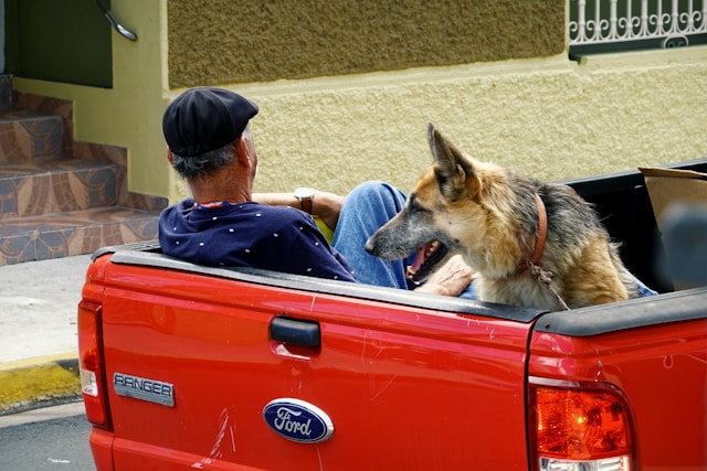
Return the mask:
M563 56L233 87L254 119L261 190L410 189L431 161L425 126L542 180L707 156L707 47Z

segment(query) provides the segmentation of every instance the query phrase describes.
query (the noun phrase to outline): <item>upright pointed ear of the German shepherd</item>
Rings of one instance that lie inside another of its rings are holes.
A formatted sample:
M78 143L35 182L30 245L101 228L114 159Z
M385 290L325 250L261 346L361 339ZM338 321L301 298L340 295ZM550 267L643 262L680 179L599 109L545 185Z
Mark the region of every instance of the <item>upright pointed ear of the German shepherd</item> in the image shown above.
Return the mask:
M434 159L434 174L442 194L450 201L475 199L481 189L481 181L472 162L446 140L432 122L428 125L428 141Z

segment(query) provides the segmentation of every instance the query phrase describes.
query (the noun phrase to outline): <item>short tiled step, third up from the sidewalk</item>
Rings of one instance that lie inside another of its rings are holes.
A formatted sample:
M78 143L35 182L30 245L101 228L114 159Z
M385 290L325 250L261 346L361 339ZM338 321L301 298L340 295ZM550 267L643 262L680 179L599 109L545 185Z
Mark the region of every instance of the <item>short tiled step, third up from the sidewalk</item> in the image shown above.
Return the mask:
M0 163L62 153L61 116L29 109L0 111Z

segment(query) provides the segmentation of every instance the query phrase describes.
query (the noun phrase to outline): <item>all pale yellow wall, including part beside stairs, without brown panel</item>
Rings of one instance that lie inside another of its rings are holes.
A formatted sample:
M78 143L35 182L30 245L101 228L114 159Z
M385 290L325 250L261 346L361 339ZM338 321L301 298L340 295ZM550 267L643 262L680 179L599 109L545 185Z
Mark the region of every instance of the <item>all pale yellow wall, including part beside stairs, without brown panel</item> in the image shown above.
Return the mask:
M21 92L75 100L76 139L128 149L134 192L183 189L166 163L167 0L114 0L136 43L114 33L110 90L17 78ZM550 47L551 49L551 47ZM346 192L368 179L408 190L430 162L425 125L461 148L542 180L707 156L707 46L590 57L414 67L319 78L209 83L242 93L261 169L257 191Z

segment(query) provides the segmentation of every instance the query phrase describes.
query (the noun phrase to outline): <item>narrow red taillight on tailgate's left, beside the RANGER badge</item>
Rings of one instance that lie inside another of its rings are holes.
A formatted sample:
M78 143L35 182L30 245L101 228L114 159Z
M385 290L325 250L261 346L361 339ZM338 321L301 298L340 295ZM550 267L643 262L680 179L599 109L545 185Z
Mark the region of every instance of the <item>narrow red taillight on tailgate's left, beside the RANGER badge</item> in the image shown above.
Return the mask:
M101 341L101 304L82 300L78 303L78 371L86 418L109 428Z

